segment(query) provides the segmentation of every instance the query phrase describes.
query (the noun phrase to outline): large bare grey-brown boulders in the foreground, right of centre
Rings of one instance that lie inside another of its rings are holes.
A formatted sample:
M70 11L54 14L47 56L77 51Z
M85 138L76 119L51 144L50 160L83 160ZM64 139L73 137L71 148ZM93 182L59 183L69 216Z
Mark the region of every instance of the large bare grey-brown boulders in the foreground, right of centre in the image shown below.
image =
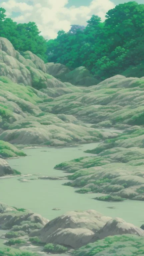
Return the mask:
M117 234L144 236L144 231L120 218L112 219L94 210L88 210L68 212L50 221L43 229L32 232L30 236L38 236L44 243L61 244L76 249L89 242Z

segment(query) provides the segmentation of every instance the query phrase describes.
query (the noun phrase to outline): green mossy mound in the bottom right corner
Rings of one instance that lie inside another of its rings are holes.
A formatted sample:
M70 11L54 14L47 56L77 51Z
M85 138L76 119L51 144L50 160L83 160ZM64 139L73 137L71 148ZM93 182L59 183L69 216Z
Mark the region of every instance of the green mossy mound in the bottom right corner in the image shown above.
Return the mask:
M137 256L143 255L144 238L136 235L108 236L97 242L87 244L72 252L74 256L118 255Z

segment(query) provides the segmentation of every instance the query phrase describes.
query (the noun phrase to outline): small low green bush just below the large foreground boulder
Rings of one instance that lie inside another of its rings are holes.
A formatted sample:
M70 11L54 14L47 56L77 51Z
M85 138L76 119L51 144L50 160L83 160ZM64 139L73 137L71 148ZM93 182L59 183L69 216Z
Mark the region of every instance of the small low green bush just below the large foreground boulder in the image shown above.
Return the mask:
M44 251L48 253L65 253L68 251L68 248L59 244L46 244L44 246Z

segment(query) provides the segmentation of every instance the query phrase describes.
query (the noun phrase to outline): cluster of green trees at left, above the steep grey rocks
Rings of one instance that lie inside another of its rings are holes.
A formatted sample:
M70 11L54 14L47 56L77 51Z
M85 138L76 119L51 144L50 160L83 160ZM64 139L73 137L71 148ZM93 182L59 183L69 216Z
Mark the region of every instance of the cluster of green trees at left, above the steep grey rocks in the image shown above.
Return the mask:
M31 51L47 62L47 40L40 36L35 22L16 23L5 12L0 8L0 37L7 38L17 51Z

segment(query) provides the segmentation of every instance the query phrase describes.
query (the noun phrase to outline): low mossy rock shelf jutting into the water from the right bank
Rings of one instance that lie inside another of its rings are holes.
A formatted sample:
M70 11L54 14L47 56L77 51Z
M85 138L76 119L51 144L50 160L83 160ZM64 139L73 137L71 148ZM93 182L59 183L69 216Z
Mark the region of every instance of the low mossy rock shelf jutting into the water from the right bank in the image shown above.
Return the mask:
M135 157L142 158L136 155L136 150L133 151ZM139 152L138 152L139 153ZM120 152L117 153L120 157ZM104 156L107 156L106 154ZM114 153L109 154L107 158L104 157L86 157L72 160L69 162L57 165L56 169L61 169L66 172L72 172L69 176L70 182L66 185L72 187L80 187L78 193L104 193L110 194L113 199L133 199L144 200L144 171L143 162L130 161L133 154L126 154L122 159L127 159L127 163L117 163L114 159ZM112 159L111 159L112 158ZM139 164L140 163L140 164ZM134 164L134 166L133 166ZM101 165L101 166L98 166ZM138 165L138 166L137 166ZM104 196L105 197L105 196ZM102 200L108 200L102 197ZM119 197L119 198L118 198ZM101 199L101 197L99 198ZM113 200L115 201L115 200ZM119 200L120 201L120 200Z

